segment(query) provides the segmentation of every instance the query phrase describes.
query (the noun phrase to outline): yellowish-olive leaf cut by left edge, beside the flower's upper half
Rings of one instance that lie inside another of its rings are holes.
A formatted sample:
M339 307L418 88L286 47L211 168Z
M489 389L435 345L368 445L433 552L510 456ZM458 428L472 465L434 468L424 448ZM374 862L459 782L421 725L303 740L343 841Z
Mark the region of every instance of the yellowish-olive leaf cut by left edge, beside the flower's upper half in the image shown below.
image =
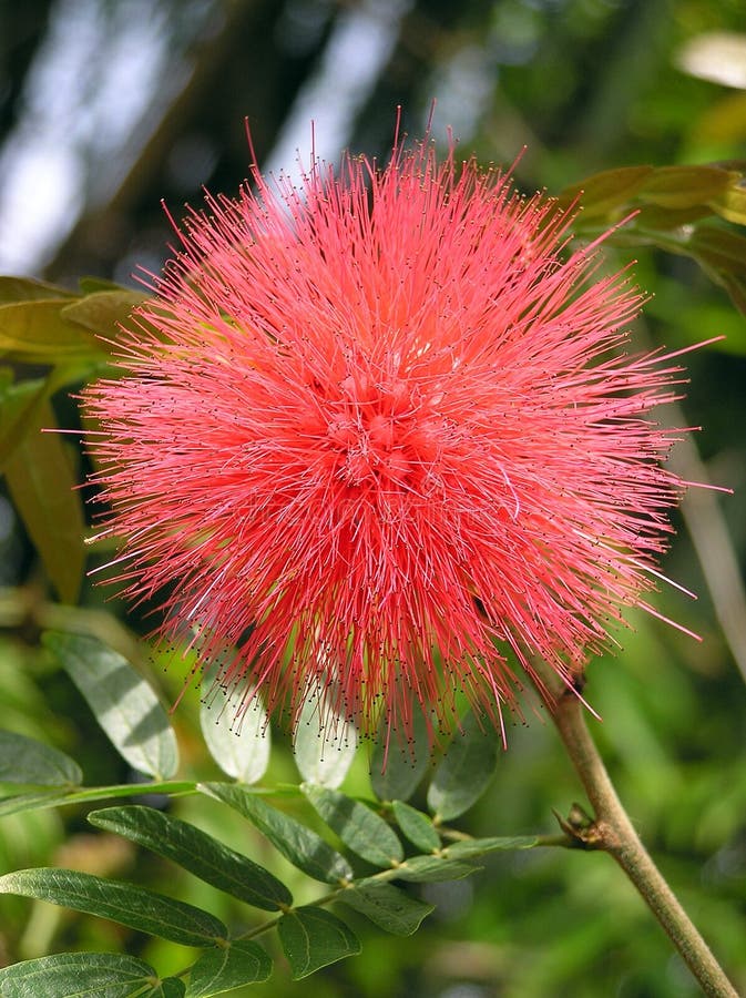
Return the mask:
M0 305L0 354L24 364L52 365L105 357L102 344L89 329L62 317L70 301L40 298Z

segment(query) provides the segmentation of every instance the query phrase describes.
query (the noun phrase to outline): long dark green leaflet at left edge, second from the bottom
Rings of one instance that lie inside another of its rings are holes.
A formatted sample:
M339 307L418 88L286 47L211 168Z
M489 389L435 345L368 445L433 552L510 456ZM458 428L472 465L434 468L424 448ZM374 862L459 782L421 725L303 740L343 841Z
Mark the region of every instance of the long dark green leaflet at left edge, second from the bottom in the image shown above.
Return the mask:
M19 869L0 877L0 894L63 905L184 946L210 946L227 936L223 923L208 912L144 887L75 869Z

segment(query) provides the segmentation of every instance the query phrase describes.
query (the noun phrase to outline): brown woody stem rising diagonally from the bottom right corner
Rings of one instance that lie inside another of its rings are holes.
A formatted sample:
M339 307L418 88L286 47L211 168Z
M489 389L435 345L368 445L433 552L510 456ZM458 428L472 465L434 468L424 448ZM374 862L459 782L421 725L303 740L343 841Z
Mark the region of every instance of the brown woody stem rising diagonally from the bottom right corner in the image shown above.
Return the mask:
M539 686L541 693L541 686ZM673 890L655 866L620 802L585 723L585 706L572 690L543 696L595 812L591 824L572 826L579 845L609 853L637 888L706 995L738 998ZM568 831L568 829L565 829Z

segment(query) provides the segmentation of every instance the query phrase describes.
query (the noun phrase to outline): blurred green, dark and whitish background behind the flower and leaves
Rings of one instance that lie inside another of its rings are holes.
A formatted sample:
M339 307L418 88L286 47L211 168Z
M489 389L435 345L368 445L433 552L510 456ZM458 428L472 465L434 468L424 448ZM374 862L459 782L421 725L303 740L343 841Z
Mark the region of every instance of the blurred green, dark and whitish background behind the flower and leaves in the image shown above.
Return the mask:
M201 189L233 193L248 173L244 119L259 164L308 162L343 149L385 157L396 106L412 135L437 100L433 134L452 126L464 152L515 167L521 189L559 192L624 164L746 159L744 0L0 0L0 272L74 287L83 275L133 283L157 271L178 217ZM631 252L615 251L625 264ZM689 355L677 425L702 427L678 448L683 473L735 490L692 493L665 571L661 612L702 643L632 615L614 658L590 669L593 723L629 811L685 906L746 988L746 322L688 259L637 252L654 294L634 330ZM65 398L55 405L74 419ZM70 411L68 411L70 410ZM73 456L74 457L74 456ZM74 458L79 460L80 458ZM95 558L95 556L92 556ZM53 599L28 537L0 495L2 726L51 740L86 782L127 780L80 697L38 649ZM83 604L125 620L86 585ZM25 608L19 614L19 607ZM137 630L141 621L126 618ZM181 676L159 675L173 700ZM198 696L175 715L184 765L214 776L196 724ZM365 752L348 790L367 793ZM294 780L289 747L273 778ZM582 801L551 724L510 730L491 791L466 819L472 834L550 832L552 808ZM417 802L416 802L417 803ZM422 803L422 802L420 802ZM307 885L241 819L200 801L178 813ZM463 823L462 823L463 824ZM215 910L224 896L121 841L92 835L84 812L0 823L0 867L71 866L147 883ZM411 939L360 928L364 951L293 985L277 960L257 996L319 998L681 998L696 996L679 959L612 862L534 851L488 858L471 880L429 885L436 913ZM0 905L0 961L48 950L122 947L162 972L180 947L41 903ZM237 995L239 992L236 992ZM246 995L249 989L246 989Z

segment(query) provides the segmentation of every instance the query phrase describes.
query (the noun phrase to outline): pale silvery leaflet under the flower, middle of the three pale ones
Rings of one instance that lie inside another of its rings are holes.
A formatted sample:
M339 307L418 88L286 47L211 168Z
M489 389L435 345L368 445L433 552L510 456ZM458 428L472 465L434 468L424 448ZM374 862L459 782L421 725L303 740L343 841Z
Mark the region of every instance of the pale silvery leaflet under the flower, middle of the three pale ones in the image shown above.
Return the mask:
M242 710L249 693L233 686L225 694L213 670L202 683L200 711L200 725L210 754L224 773L247 784L257 783L266 773L270 747L269 719L258 696Z

